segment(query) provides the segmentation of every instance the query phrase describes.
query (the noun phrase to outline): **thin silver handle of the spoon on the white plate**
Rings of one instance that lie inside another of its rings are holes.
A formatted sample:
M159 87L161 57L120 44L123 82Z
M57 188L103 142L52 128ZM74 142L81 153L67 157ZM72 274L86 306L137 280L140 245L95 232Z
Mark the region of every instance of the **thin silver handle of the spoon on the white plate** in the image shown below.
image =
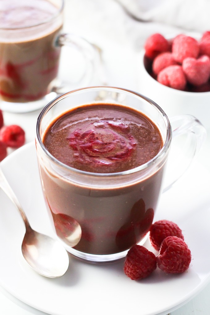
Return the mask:
M28 219L26 218L26 214L25 212L23 211L23 208L21 207L17 197L15 196L12 188L9 186L9 183L8 181L6 180L3 172L2 172L2 169L0 168L0 188L5 192L5 194L9 197L9 199L14 203L14 205L18 208L22 218L23 218L23 221L26 225L26 228L27 227L31 227L29 222L28 222Z

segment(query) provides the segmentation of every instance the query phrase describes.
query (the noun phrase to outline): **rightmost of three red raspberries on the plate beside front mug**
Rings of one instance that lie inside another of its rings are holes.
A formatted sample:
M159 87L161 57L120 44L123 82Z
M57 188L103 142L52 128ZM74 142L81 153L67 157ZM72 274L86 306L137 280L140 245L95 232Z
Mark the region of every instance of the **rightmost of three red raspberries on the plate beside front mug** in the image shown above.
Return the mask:
M162 241L157 266L167 273L182 273L189 268L191 252L183 239L168 236Z

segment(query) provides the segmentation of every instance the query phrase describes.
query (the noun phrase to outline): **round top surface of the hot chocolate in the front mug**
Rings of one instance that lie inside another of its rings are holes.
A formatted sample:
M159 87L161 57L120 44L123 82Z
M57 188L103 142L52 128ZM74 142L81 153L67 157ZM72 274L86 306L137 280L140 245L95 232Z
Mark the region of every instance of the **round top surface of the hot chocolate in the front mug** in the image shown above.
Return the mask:
M43 143L54 157L75 169L116 173L151 160L162 148L162 137L145 115L99 104L62 115L48 128Z

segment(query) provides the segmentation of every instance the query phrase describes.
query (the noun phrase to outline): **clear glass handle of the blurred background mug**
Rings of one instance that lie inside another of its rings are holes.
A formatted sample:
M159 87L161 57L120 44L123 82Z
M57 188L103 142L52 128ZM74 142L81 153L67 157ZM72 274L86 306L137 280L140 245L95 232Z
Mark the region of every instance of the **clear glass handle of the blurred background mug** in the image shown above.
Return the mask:
M98 74L98 79L101 82L103 69L101 50L99 47L89 43L86 39L82 37L67 33L62 33L58 35L58 37L56 37L55 46L69 46L78 50L78 52L81 53L82 57L84 58L85 68L79 80L69 84L59 82L57 86L53 87L53 92L62 94L70 89L72 90L74 88L89 86L89 83L93 80L96 74Z

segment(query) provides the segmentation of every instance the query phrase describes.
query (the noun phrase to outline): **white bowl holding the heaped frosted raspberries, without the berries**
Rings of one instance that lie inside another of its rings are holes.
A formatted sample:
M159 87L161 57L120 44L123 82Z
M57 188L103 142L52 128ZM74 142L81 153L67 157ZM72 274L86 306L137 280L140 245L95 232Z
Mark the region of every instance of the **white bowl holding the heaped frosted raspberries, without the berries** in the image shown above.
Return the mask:
M156 102L170 117L190 114L210 129L210 92L186 92L157 82L145 69L145 50L139 57L139 93Z

